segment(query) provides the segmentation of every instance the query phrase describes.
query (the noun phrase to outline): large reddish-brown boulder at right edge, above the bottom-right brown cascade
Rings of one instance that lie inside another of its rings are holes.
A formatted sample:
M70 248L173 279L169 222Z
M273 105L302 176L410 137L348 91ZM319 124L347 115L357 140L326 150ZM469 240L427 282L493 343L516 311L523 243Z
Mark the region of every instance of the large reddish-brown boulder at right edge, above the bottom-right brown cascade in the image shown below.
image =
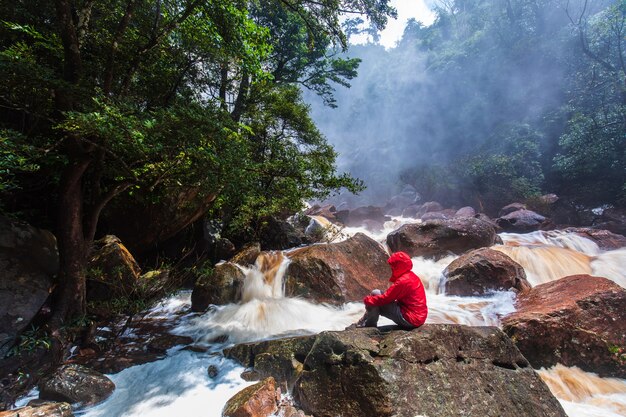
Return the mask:
M517 299L503 330L535 368L557 363L626 378L626 290L574 275L542 284Z

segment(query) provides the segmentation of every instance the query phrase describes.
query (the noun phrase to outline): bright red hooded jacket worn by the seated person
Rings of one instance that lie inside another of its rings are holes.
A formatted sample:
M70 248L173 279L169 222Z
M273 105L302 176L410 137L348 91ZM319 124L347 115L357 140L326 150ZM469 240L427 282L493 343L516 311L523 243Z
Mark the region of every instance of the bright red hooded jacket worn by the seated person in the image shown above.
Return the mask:
M391 286L381 295L368 295L363 302L367 306L383 306L396 301L404 319L416 327L421 326L428 315L426 293L420 278L411 271L411 257L396 252L387 263L391 265Z

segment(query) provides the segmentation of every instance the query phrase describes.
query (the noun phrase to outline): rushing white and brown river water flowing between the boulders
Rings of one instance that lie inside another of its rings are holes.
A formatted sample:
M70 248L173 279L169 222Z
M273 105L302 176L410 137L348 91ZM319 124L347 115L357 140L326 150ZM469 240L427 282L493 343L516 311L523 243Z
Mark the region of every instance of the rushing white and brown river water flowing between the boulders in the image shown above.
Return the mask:
M409 221L414 220L394 219L386 224L386 230L376 234L359 228L344 229L341 234L345 238L366 232L382 242L388 232ZM504 245L494 248L520 263L531 285L584 273L605 276L626 287L626 249L603 252L588 239L559 232L501 234L501 237ZM442 271L454 259L453 256L437 262L413 259L413 271L427 288L427 323L499 325L502 316L514 311L512 292L486 297L451 297L440 293ZM256 267L245 269L246 281L242 301L238 304L181 317L176 313L189 309L189 292L162 302L150 314L177 320L175 332L192 336L198 344L207 346L208 351L199 353L173 348L165 359L109 375L117 387L113 395L95 407L79 410L77 415L220 416L226 401L251 384L241 379L242 367L221 355L226 343L341 330L362 315L361 303L336 307L285 297L282 278L288 262L288 253L268 254L257 260ZM385 320L381 319L380 324L391 324ZM218 370L213 378L207 373L211 365ZM624 380L599 378L560 365L539 373L570 417L626 415Z

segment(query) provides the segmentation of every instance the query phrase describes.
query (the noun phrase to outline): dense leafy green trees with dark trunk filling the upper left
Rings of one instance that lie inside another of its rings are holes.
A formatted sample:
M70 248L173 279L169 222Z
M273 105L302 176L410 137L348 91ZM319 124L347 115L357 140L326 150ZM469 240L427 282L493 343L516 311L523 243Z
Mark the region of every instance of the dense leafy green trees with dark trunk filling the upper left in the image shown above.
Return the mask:
M337 56L340 14L383 27L387 3L2 1L2 209L56 232L60 315L83 310L94 236L125 232L101 218L127 217L145 248L207 213L254 231L361 189L335 173L298 86L332 104L329 83L359 63Z

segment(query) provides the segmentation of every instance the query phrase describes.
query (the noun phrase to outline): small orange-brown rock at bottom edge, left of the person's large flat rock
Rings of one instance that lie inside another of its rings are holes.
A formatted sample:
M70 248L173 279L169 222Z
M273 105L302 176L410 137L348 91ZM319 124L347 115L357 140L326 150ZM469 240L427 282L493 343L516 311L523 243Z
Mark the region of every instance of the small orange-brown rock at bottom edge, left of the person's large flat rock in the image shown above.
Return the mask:
M269 377L235 394L224 406L224 417L267 417L278 410L276 381Z

